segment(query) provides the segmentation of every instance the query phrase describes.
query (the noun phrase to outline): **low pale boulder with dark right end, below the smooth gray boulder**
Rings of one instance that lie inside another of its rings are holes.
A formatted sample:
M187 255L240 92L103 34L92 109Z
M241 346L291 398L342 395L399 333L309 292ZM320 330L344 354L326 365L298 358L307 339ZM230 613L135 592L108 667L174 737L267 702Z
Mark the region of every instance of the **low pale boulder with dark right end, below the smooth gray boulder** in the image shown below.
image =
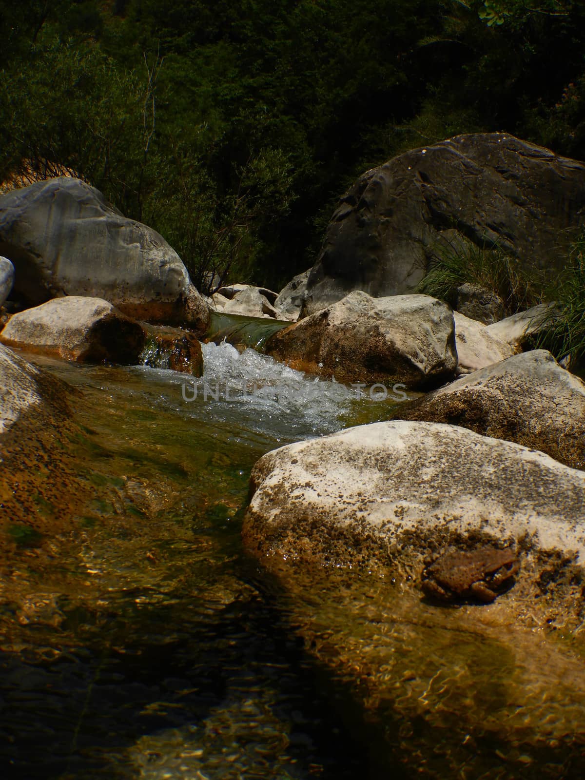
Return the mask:
M0 340L66 360L136 364L146 335L106 300L67 296L14 314Z

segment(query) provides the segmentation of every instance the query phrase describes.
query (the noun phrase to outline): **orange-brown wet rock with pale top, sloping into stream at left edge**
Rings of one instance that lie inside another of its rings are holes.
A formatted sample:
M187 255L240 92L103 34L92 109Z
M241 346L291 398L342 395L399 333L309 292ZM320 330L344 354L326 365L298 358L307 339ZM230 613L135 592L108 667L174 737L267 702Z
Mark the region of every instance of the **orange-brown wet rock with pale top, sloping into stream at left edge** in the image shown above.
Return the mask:
M94 495L80 473L75 443L83 431L75 388L0 345L0 562L17 554L11 531L41 544L42 535L70 532ZM51 558L55 550L51 550ZM51 559L50 558L50 559ZM20 565L22 552L20 552Z

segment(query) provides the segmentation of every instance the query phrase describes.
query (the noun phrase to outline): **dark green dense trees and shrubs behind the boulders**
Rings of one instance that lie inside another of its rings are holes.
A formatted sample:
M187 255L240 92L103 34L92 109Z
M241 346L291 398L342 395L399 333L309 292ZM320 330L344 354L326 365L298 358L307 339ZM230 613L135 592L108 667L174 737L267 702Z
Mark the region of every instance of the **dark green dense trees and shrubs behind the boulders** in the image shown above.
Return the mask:
M278 287L408 147L506 130L585 158L584 34L577 0L0 0L0 180L65 165L197 285Z

